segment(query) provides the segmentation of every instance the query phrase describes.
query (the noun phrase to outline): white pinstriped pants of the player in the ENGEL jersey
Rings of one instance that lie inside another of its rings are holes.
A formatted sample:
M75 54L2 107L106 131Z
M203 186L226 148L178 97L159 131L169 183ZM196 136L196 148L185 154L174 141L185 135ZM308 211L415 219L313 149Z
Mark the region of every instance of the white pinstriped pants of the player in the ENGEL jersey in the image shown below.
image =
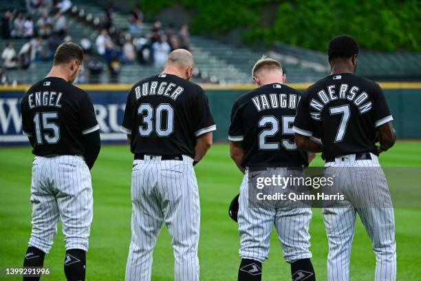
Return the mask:
M48 253L63 222L66 249L87 251L93 216L91 173L81 156L34 158L29 244Z

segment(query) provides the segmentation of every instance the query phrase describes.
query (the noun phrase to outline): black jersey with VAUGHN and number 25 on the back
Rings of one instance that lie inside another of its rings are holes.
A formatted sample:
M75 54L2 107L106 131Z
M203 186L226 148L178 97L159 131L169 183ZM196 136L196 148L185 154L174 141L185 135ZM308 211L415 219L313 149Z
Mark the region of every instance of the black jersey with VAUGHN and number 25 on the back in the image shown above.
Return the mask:
M296 148L292 124L300 92L279 83L258 87L233 105L230 141L242 141L243 167L307 166L307 153Z

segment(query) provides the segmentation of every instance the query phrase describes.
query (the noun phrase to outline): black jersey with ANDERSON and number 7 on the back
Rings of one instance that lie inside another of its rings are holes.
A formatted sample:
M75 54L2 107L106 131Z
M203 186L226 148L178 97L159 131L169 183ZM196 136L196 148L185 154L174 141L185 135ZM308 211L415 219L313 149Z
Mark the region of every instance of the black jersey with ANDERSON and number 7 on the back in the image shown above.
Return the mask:
M378 154L376 128L392 121L380 86L354 74L336 74L310 86L297 110L294 132L316 135L323 156Z

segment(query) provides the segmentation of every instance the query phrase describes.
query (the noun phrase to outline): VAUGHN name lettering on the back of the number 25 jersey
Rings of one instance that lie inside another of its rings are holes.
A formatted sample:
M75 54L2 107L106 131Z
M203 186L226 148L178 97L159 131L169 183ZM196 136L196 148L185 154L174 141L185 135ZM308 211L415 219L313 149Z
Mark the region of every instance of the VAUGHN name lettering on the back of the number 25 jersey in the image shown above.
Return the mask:
M260 94L251 98L257 112L274 108L289 108L295 110L301 96L297 94Z

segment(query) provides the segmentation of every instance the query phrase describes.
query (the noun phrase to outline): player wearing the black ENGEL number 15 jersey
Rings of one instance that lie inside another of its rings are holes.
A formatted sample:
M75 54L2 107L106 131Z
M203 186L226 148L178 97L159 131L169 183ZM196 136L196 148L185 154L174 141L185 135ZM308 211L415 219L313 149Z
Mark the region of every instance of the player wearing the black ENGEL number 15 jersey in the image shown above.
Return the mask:
M86 251L92 221L89 170L100 151L99 126L88 94L72 82L83 50L63 43L47 77L30 87L21 101L23 134L35 154L32 164L32 233L23 267L43 267L63 223L67 280L85 280ZM23 280L39 280L26 278Z

